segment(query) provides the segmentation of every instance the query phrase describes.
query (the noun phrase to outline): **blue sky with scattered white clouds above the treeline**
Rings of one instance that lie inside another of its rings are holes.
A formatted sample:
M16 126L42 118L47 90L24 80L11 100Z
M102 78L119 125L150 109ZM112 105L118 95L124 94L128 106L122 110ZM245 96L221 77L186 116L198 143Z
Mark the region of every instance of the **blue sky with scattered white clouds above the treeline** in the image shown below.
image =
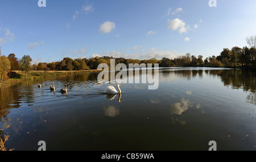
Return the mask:
M29 55L32 63L186 53L206 58L242 48L256 35L255 0L44 1L46 7L38 0L0 0L2 55Z

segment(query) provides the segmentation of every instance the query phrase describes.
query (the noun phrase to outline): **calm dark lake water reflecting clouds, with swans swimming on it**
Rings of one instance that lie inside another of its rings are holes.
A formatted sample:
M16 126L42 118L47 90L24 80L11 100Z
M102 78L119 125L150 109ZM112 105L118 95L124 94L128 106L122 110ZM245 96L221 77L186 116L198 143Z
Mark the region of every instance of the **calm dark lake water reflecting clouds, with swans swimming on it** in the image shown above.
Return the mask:
M208 150L214 140L217 150L256 150L253 72L160 68L157 89L149 90L148 83L120 84L121 95L106 95L110 84L97 76L2 86L0 129L2 137L9 135L7 149L38 150L44 140L46 150ZM53 83L56 91L49 89ZM67 94L60 93L64 84Z

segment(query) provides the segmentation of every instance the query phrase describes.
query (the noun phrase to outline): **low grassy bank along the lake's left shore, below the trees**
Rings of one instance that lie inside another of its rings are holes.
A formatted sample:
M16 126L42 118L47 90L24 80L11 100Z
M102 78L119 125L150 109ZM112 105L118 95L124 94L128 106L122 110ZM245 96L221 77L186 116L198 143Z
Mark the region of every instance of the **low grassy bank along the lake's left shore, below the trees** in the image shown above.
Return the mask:
M9 77L4 79L2 84L9 84L20 82L22 80L32 80L32 79L40 79L44 77L51 77L51 76L64 76L64 75L72 75L78 73L92 73L97 72L98 70L79 70L79 71L28 71L27 79L26 79L26 72L23 71L10 71ZM1 84L1 83L0 83Z

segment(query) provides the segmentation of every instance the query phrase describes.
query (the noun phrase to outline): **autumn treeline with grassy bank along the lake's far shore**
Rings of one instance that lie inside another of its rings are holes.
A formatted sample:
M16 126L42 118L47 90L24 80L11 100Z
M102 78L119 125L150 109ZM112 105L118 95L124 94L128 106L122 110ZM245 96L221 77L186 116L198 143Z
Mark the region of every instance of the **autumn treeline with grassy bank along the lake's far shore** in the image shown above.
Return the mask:
M256 40L256 36L255 36ZM256 41L255 41L256 42ZM251 44L250 44L251 45ZM97 71L97 67L100 63L106 63L110 66L110 59L113 57L93 57L93 58L77 58L72 59L69 57L63 58L58 62L40 62L38 64L32 64L30 56L24 55L21 59L16 58L14 53L9 56L3 56L0 49L0 75L1 82L20 79L31 79L38 76L51 76L51 75L65 75L75 73L75 71ZM155 63L159 64L159 67L229 67L240 68L246 70L256 70L256 48L255 45L251 45L240 48L234 46L232 49L224 48L219 56L209 56L203 58L203 56L195 56L190 53L186 53L183 56L178 56L174 59L164 57L162 59L126 59L126 58L114 58L115 64L125 63L129 67L129 63Z

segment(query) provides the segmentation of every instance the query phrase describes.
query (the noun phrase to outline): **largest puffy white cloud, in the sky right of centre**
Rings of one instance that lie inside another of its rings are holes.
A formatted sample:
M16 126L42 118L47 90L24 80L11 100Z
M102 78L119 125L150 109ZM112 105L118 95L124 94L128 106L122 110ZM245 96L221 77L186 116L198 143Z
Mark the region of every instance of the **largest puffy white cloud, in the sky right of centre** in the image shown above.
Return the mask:
M186 26L186 24L185 24L185 22L183 22L183 20L176 18L176 19L167 21L167 28L172 29L174 31L179 29L179 33L187 33L190 26L189 25Z

